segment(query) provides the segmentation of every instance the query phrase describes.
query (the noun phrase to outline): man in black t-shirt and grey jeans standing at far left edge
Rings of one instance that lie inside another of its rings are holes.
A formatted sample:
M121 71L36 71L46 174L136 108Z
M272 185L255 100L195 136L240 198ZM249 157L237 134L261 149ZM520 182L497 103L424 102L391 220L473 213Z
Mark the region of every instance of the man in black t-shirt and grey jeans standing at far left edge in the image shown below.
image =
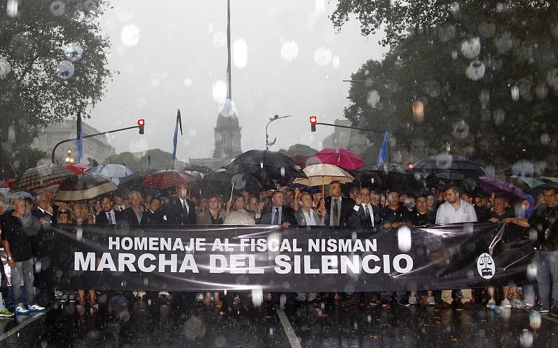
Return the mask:
M17 198L14 201L14 211L2 221L2 244L6 249L8 264L11 267L12 292L15 303L15 313L26 314L29 311L42 311L44 307L38 306L35 301L35 289L33 287L34 264L31 247L31 234L24 226L22 217L26 213L24 200ZM23 282L26 292L27 308L22 301L20 284Z

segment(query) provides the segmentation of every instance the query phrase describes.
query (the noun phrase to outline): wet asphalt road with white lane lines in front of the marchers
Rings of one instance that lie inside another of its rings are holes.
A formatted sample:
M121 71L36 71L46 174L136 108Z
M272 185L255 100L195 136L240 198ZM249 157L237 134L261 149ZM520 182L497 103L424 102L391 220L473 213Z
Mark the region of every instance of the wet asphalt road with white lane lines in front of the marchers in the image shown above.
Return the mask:
M299 303L285 308L287 326L282 313L193 301L179 308L132 301L128 310L122 301L81 311L64 304L1 320L0 347L558 347L558 320L522 309Z

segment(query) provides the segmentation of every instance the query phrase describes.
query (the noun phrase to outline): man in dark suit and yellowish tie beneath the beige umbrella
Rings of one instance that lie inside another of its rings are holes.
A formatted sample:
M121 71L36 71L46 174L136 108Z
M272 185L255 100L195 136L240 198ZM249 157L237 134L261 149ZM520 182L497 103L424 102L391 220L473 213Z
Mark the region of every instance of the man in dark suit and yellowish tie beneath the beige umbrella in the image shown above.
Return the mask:
M341 183L332 181L329 184L329 193L331 196L326 197L326 226L358 226L359 219L354 211L356 202L352 198L341 196Z

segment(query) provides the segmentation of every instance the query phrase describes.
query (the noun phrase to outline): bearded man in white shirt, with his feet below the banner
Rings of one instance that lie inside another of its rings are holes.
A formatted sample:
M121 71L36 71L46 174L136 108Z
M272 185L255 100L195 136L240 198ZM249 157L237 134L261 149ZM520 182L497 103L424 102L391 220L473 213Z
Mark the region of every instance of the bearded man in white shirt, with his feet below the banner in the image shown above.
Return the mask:
M451 186L446 189L446 202L439 206L436 214L436 223L464 223L476 222L476 212L472 205L460 198L458 187ZM461 303L466 306L472 306L471 289L461 290ZM451 306L453 299L451 290L442 291L442 306L448 308Z

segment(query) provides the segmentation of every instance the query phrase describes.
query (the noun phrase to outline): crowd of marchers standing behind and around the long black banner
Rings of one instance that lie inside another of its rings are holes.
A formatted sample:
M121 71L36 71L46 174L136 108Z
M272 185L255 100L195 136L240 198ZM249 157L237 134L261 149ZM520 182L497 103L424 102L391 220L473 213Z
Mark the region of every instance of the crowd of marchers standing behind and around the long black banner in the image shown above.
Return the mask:
M521 288L494 287L483 289L444 290L442 292L367 292L363 294L287 294L287 301L344 301L365 306L440 306L442 308L467 308L474 303L494 306L498 300L503 307L532 307L541 313L558 315L558 204L556 190L545 189L541 196L530 195L509 198L503 192L491 195L483 192L462 192L458 187L425 188L421 192L390 189L377 191L370 187L342 187L333 181L322 188L282 187L275 191L250 193L238 191L230 197L218 194L191 196L186 184L172 190L167 197L142 196L132 191L126 197L119 193L105 195L88 202L57 202L52 191L45 190L34 198L0 199L1 241L3 261L2 283L11 285L7 304L13 311L25 314L44 310L50 304L50 294L43 296L45 303L36 301L34 287L34 256L36 248L33 237L44 228L58 225L76 227L141 226L141 225L278 225L289 226L338 226L340 228L398 229L402 226L430 226L439 223L486 223L515 224L525 228L535 242L533 264L536 267L538 305L534 298L521 298ZM21 287L23 285L24 292ZM528 287L532 285L524 286ZM552 289L552 296L550 290ZM77 296L75 293L77 292ZM532 291L531 291L532 292ZM58 301L77 301L77 308L86 306L85 290L56 292ZM89 306L98 308L96 291L87 290ZM189 293L188 293L189 294ZM525 294L525 291L523 292ZM157 294L156 294L157 295ZM267 294L267 301L276 301L277 294ZM136 292L137 299L156 301L152 293ZM174 294L174 301L190 301L184 294ZM6 298L6 296L5 296ZM54 294L52 294L54 299ZM552 303L550 303L552 299ZM206 292L197 294L195 300L220 308L241 303L250 306L248 294ZM551 306L552 304L552 306ZM11 317L0 292L0 317Z

